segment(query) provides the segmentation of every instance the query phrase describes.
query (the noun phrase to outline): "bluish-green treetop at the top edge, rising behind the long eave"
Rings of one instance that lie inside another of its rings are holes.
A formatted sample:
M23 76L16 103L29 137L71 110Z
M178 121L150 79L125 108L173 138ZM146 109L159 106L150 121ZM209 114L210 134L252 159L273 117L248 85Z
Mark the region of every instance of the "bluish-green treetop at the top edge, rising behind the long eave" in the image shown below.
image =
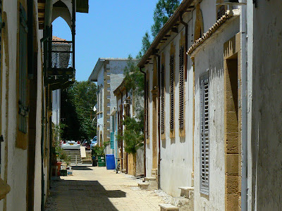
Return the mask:
M161 27L163 27L176 8L178 8L180 0L159 0L154 9L154 25L152 25L152 35L156 37Z

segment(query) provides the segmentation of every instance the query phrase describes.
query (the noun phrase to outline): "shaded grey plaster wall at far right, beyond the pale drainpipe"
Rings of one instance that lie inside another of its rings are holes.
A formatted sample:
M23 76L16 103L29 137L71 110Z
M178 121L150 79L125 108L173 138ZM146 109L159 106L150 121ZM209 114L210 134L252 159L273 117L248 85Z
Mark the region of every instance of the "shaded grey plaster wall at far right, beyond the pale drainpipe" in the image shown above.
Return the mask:
M281 210L282 4L254 8L252 63L252 196L255 210ZM250 125L248 125L250 127Z

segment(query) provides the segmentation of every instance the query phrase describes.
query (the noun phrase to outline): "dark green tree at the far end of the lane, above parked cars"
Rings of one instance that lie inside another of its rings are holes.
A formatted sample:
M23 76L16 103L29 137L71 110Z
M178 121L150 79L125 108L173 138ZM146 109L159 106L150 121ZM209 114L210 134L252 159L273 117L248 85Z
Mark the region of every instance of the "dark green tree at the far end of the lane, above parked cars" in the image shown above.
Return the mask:
M63 139L91 139L96 135L96 124L92 124L95 116L92 108L97 101L96 91L96 84L89 81L75 82L62 91L62 117L66 118Z

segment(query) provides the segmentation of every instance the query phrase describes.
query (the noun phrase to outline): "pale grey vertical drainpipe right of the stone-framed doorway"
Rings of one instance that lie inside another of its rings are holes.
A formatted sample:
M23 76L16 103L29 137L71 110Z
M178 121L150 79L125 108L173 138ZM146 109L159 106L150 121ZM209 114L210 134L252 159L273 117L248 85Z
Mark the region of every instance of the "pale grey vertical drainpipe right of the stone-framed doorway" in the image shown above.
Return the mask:
M241 209L247 210L247 8L241 6L240 32L241 32L241 76L242 76L242 184Z

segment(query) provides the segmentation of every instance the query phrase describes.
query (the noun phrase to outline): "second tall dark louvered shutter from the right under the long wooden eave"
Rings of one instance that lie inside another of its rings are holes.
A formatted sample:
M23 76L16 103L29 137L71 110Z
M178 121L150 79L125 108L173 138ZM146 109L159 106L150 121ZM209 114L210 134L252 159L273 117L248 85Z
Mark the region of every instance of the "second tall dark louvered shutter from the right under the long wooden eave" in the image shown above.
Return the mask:
M170 109L170 128L171 130L174 129L174 55L171 55L171 59L169 62L169 67L170 67L170 103L171 103L171 109Z

